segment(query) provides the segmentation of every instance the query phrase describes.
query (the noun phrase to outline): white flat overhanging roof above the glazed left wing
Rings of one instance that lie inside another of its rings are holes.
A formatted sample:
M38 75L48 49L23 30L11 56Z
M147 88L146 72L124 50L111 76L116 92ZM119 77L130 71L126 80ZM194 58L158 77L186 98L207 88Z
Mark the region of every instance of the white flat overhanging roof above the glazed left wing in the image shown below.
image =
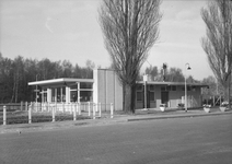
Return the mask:
M78 82L93 83L93 79L73 79L73 78L60 78L43 81L28 82L28 85L71 85Z

